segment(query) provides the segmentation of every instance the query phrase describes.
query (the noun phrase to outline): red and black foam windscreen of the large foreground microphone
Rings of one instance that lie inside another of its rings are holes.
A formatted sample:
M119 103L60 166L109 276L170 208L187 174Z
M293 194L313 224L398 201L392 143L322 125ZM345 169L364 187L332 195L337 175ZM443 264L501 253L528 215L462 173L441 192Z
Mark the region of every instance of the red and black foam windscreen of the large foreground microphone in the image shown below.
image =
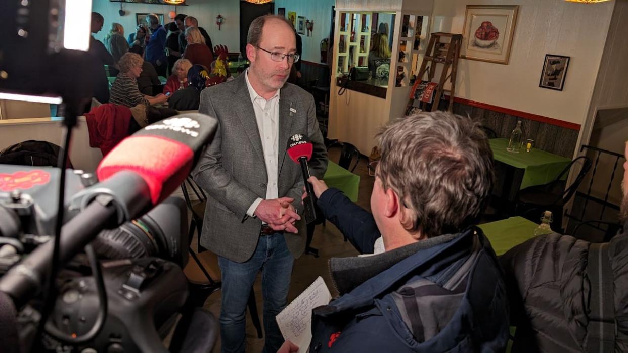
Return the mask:
M176 115L122 140L96 169L99 181L119 171L136 172L148 184L151 202L170 196L192 171L218 122L207 115Z

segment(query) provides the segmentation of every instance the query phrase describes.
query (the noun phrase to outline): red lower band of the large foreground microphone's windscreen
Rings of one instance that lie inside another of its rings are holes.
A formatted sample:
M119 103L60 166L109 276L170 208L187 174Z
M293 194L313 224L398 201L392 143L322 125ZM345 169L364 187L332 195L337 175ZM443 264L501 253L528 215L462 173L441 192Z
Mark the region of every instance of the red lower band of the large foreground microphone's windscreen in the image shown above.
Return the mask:
M139 174L151 192L153 204L170 196L192 171L194 151L162 136L133 135L122 140L98 165L99 181L119 171Z

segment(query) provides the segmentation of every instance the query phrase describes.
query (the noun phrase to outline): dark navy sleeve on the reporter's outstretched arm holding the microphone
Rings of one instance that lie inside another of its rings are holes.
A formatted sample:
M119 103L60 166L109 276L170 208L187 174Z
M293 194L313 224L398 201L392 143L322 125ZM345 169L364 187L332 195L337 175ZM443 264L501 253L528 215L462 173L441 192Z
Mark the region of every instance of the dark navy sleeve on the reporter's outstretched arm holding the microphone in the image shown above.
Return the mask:
M342 191L328 189L317 202L323 216L332 222L362 254L371 254L381 236L373 215L353 203Z

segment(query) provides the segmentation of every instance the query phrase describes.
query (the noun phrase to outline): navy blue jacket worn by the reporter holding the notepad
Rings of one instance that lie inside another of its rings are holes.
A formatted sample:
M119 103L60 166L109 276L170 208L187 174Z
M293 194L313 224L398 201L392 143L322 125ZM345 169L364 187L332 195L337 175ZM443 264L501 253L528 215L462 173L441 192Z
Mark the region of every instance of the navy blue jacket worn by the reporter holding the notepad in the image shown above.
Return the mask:
M372 252L380 234L370 213L337 189L323 192L318 206L360 252ZM409 255L400 256L404 251ZM391 259L395 261L387 268L377 268ZM342 296L313 310L310 352L502 352L506 348L509 332L504 282L495 253L479 228L360 258L358 262L366 261L367 265L362 270L346 271L345 279L364 277L369 271L377 273L355 285L338 283L342 271L334 273L333 261L332 278ZM440 294L435 292L408 295L403 291L414 283L428 282L432 291L444 292L440 286L462 266L468 271L458 286L457 307L438 307L434 298ZM343 293L343 288L349 290ZM433 322L423 322L425 327L431 325L435 334L421 339L423 332L408 328L395 302L400 296L411 303L421 304L425 299L435 305L431 312L419 311L417 315L421 319L424 313L431 319L436 317ZM440 313L446 319L439 321Z

